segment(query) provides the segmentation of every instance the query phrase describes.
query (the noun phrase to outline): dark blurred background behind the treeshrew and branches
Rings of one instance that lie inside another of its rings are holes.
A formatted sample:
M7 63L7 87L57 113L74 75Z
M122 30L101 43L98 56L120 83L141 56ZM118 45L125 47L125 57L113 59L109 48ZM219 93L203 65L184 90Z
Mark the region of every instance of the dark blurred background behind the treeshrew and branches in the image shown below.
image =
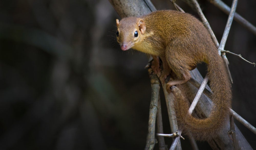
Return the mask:
M152 2L158 10L174 9L169 1ZM220 41L228 16L199 3ZM237 12L256 25L255 7L254 0L239 1ZM116 18L107 0L0 1L0 149L144 149L151 98L147 57L121 51ZM255 37L233 22L225 49L255 62ZM256 126L256 69L227 57L233 109ZM164 103L164 132L170 133ZM236 124L256 148L256 135Z

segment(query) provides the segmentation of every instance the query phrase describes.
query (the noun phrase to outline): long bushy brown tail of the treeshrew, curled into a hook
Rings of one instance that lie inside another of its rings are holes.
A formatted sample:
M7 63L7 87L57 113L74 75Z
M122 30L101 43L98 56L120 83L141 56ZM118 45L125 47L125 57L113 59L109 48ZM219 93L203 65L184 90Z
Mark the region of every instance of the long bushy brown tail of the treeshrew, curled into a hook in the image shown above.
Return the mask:
M214 57L216 56L216 57ZM213 54L208 58L208 76L213 92L213 107L208 118L198 119L188 114L189 102L177 87L172 91L175 95L175 111L177 122L183 133L190 132L196 140L209 140L222 129L229 116L231 107L231 85L220 56Z

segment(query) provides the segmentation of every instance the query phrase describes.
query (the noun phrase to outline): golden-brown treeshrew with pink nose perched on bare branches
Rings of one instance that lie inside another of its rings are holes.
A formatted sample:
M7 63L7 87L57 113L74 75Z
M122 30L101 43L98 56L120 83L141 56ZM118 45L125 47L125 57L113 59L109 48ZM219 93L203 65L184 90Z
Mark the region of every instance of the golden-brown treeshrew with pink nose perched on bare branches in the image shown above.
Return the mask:
M170 69L177 75L177 80L167 83L167 90L187 82L191 78L189 71L196 64L207 64L214 103L209 117L198 119L189 115L188 100L177 88L173 88L174 105L183 133L190 132L196 140L215 136L229 114L231 85L223 60L204 25L190 14L173 10L155 11L141 18L123 18L116 24L119 31L117 41L121 46L160 56L165 72L162 80ZM134 31L138 31L138 37L134 36Z

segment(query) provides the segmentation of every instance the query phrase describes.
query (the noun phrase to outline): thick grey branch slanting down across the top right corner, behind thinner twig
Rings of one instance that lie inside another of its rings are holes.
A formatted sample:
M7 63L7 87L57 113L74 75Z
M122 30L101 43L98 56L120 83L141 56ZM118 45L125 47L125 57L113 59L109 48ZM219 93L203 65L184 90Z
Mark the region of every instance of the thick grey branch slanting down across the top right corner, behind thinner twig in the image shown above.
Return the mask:
M208 1L212 4L214 4L219 9L221 9L226 14L230 13L230 7L228 5L226 5L225 3L223 3L222 1L220 1L220 0L208 0ZM234 15L234 20L236 20L238 23L240 23L242 26L244 26L246 29L248 29L249 31L251 31L253 34L256 35L256 27L253 26L249 21L244 19L242 16L240 16L236 12Z

